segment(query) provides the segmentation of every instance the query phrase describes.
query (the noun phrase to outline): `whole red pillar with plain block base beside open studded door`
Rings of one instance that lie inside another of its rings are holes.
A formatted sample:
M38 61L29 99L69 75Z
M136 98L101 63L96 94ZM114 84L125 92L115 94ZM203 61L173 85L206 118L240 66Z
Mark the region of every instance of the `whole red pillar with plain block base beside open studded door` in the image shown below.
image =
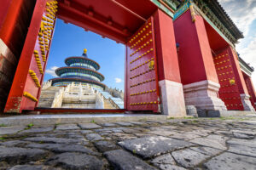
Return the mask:
M154 14L160 101L163 114L185 116L172 18L160 9Z

